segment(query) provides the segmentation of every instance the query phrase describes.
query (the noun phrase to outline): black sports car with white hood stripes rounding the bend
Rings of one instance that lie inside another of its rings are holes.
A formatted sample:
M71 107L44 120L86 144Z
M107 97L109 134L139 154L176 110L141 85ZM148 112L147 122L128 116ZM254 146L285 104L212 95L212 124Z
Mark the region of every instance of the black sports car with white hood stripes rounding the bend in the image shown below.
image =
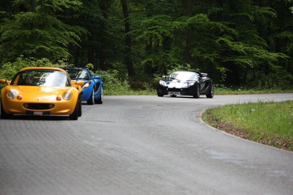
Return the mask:
M207 98L213 98L214 84L205 73L181 70L171 73L169 77L163 76L163 79L159 81L157 94L159 97L185 95L194 98L199 98L200 94L205 94Z

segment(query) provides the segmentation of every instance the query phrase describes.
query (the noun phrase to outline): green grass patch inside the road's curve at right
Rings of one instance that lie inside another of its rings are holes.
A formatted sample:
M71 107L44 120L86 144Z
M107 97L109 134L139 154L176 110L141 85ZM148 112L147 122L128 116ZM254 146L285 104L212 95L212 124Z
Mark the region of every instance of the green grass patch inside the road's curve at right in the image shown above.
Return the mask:
M293 101L229 104L207 109L202 119L240 137L293 151Z

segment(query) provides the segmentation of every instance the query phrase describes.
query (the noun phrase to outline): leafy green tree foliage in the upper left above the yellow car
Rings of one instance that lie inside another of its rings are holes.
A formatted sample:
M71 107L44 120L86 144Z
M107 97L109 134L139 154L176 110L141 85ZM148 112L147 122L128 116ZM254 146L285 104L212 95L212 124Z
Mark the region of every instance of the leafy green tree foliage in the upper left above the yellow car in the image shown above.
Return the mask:
M86 32L58 19L65 17L64 10L77 10L80 1L35 1L34 4L35 7L29 1L14 1L14 6L22 6L26 12L12 11L1 21L0 62L13 61L20 55L51 61L68 58L69 44L78 45L79 34Z

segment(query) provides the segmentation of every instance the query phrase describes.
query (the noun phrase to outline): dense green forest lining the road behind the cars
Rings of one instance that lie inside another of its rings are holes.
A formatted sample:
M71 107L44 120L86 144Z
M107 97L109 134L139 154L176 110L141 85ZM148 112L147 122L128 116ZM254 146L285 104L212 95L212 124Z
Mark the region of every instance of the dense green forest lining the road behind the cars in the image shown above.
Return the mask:
M223 86L292 89L292 6L292 0L0 0L0 75L8 79L13 67L42 61L92 64L93 72L114 71L132 82L189 69Z

